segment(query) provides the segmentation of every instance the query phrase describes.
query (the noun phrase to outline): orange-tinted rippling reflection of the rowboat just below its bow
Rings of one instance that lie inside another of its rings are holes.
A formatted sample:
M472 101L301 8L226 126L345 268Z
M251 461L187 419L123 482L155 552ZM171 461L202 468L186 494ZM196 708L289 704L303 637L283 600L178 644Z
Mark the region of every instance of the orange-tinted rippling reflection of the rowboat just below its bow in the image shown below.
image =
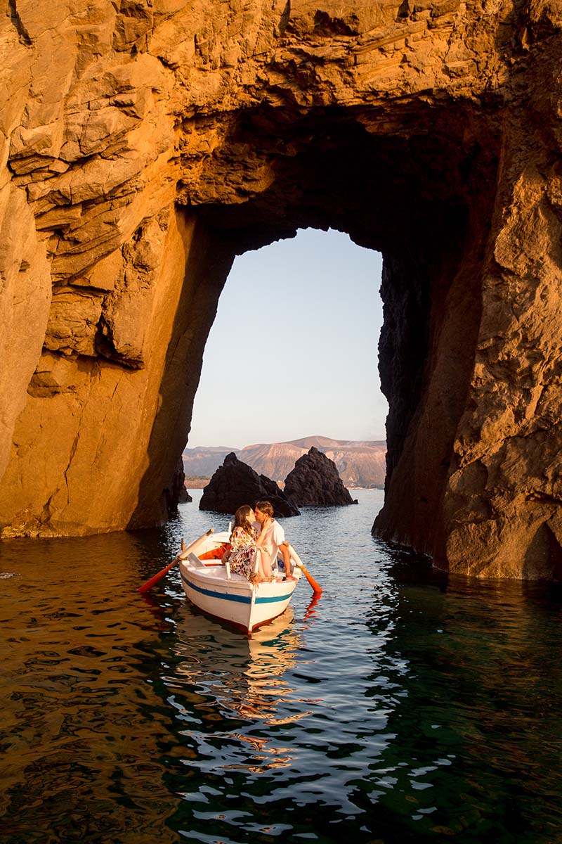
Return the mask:
M164 675L163 681L173 692L169 700L179 716L188 718L191 707L204 733L212 732L213 739L231 744L242 743L244 760L219 766L224 770L259 773L289 766L288 748L276 746L267 734L249 733L249 728L256 724L265 730L280 727L309 714L306 710L279 713L282 704L294 699L295 688L286 674L294 668L302 647L293 610L286 609L251 637L206 618L188 604L176 620L174 672ZM187 729L183 734L197 738L198 733ZM199 738L205 744L206 735Z

